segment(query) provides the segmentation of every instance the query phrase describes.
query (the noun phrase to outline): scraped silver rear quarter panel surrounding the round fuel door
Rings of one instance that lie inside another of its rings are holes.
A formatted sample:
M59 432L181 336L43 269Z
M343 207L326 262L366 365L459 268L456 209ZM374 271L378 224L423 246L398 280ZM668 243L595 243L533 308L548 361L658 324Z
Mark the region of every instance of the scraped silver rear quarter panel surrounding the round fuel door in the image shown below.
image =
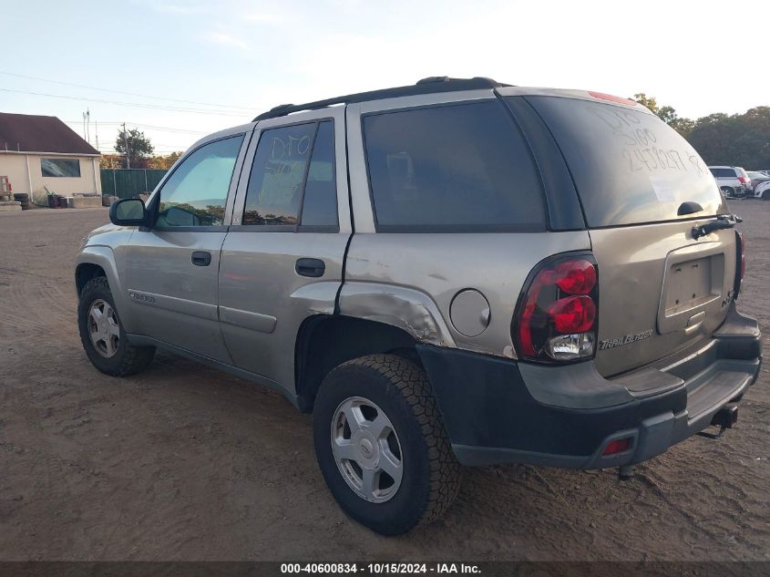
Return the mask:
M529 271L550 254L587 249L585 231L355 234L340 312L399 326L432 345L514 357L510 322ZM366 283L386 296L370 294ZM449 318L465 288L489 302L488 328L476 337L457 332Z

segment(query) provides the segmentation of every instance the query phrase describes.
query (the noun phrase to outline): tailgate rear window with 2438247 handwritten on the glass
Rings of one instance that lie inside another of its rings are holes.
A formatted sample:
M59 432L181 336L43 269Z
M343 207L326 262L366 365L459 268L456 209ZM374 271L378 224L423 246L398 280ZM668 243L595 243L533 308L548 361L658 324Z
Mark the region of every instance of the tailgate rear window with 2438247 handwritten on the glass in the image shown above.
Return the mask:
M652 114L576 98L528 97L559 143L593 227L716 214L722 196L705 163ZM685 201L703 211L678 216Z

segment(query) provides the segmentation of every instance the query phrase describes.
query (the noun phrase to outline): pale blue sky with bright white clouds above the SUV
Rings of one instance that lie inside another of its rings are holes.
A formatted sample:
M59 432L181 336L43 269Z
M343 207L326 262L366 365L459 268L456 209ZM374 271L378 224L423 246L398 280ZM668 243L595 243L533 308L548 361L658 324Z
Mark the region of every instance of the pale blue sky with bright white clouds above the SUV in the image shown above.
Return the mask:
M105 153L122 122L168 153L279 104L429 76L742 113L770 105L767 22L770 3L745 0L0 0L0 112L82 136L88 110Z

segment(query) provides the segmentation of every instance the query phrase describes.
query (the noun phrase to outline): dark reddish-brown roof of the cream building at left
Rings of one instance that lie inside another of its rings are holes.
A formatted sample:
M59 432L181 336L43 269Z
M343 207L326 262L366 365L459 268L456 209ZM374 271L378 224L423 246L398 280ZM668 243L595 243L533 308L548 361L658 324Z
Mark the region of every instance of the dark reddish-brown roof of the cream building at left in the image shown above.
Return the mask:
M54 116L0 112L0 152L60 152L98 155L99 151Z

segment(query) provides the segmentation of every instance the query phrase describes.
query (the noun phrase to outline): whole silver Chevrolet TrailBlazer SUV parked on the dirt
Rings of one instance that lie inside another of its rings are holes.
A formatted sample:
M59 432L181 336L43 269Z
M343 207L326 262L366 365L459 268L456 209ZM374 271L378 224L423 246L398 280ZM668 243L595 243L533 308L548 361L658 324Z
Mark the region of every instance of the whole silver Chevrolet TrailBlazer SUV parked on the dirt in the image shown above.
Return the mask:
M625 98L433 77L284 105L110 220L77 258L91 362L162 347L275 388L385 534L447 510L461 465L628 477L732 426L759 371L737 219Z

